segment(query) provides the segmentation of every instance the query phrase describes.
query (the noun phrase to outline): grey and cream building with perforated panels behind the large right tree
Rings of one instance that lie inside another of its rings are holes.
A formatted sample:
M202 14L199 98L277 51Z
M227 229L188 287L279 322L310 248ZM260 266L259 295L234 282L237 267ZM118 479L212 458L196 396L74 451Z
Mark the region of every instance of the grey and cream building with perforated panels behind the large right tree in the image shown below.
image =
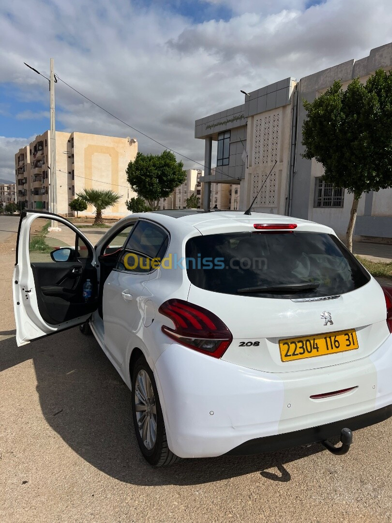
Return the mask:
M204 209L215 202L214 183L240 184L240 210L245 211L260 190L255 210L324 223L344 236L353 196L326 184L321 180L322 166L302 158L306 117L302 100L313 101L336 79L341 79L343 88L356 77L366 82L381 68L392 68L392 43L372 49L361 60L349 60L299 82L288 77L253 90L245 95L243 104L196 120L195 138L205 141ZM217 154L212 165L213 141ZM392 188L362 195L356 239L392 240L391 202Z

